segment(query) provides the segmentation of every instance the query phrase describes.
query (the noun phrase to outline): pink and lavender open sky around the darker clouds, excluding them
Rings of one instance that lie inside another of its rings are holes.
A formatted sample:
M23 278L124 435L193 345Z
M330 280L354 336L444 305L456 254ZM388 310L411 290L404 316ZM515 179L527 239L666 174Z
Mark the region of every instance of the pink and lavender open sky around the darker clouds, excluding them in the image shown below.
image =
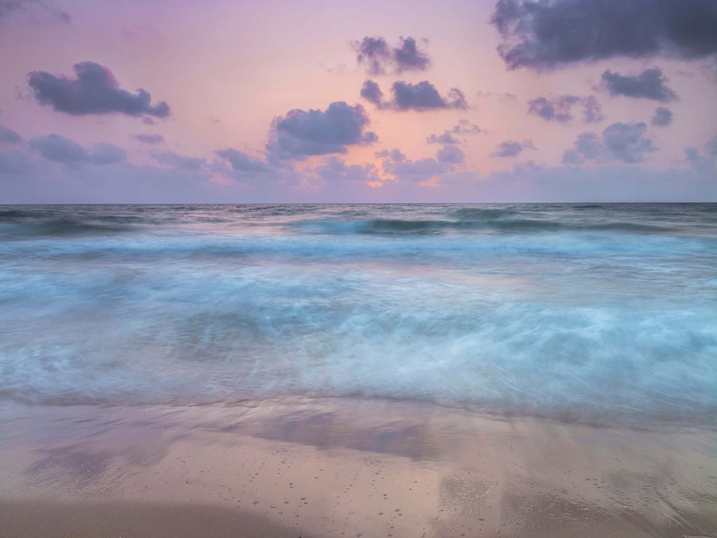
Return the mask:
M553 4L558 10L561 0ZM0 203L717 199L711 49L688 57L665 45L638 57L618 51L510 69L496 50L495 9L488 0L0 0L0 128L21 138L0 137ZM364 37L383 37L391 49L401 37L413 37L429 65L402 72L389 65L388 72L371 75L351 45ZM153 105L164 101L171 113L148 124L148 116L121 110L75 114L42 103L29 73L71 80L78 62L105 67L119 88L132 94L142 88ZM606 70L637 76L653 67L676 98L619 95L601 83ZM396 81L427 80L444 96L457 88L467 106L377 107L361 98L367 79L386 100ZM531 100L561 95L581 99L569 121L529 113ZM591 95L604 118L584 123L582 100ZM336 102L361 104L370 122L364 132L376 140L346 143L345 153L272 161L267 143L277 132L275 118L293 109L323 113ZM650 123L658 107L673 114L669 125ZM635 127L640 123L644 128ZM625 151L614 149L604 134L614 124L627 126L626 136L639 131L640 139ZM427 137L459 125L478 126L480 133L456 133L458 143L450 145L464 159L440 162L444 145ZM604 147L569 163L566 151L581 133L596 133ZM79 144L85 154L48 159L42 145L48 135ZM163 140L146 143L137 135ZM506 141L521 151L498 156ZM98 164L92 157L98 143L125 156ZM265 168L239 173L216 153L226 148ZM398 164L377 156L394 149L404 156Z

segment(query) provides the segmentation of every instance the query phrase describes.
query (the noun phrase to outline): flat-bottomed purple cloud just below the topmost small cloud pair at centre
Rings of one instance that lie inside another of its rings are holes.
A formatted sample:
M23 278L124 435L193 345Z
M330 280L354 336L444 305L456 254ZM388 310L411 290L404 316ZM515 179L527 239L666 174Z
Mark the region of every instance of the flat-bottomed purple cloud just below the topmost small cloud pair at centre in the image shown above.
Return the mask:
M398 80L391 86L393 98L383 100L381 88L373 80L366 80L361 88L361 97L376 105L377 108L390 110L441 110L456 108L465 110L468 104L465 95L457 88L451 88L448 95L441 95L428 80L412 84Z

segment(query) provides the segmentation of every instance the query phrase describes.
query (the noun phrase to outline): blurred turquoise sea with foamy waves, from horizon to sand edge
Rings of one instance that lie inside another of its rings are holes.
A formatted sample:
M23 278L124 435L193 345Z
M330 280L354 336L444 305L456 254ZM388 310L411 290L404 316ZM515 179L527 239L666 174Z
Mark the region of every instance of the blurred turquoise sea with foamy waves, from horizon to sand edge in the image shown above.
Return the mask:
M716 204L0 206L0 400L717 423Z

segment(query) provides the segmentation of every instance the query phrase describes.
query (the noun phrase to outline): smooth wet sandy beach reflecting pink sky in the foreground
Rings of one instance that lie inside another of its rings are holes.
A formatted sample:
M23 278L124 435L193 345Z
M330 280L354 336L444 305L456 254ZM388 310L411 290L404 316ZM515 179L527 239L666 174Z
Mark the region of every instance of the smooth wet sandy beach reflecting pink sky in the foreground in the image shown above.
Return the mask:
M717 536L717 432L286 398L0 410L0 537Z

